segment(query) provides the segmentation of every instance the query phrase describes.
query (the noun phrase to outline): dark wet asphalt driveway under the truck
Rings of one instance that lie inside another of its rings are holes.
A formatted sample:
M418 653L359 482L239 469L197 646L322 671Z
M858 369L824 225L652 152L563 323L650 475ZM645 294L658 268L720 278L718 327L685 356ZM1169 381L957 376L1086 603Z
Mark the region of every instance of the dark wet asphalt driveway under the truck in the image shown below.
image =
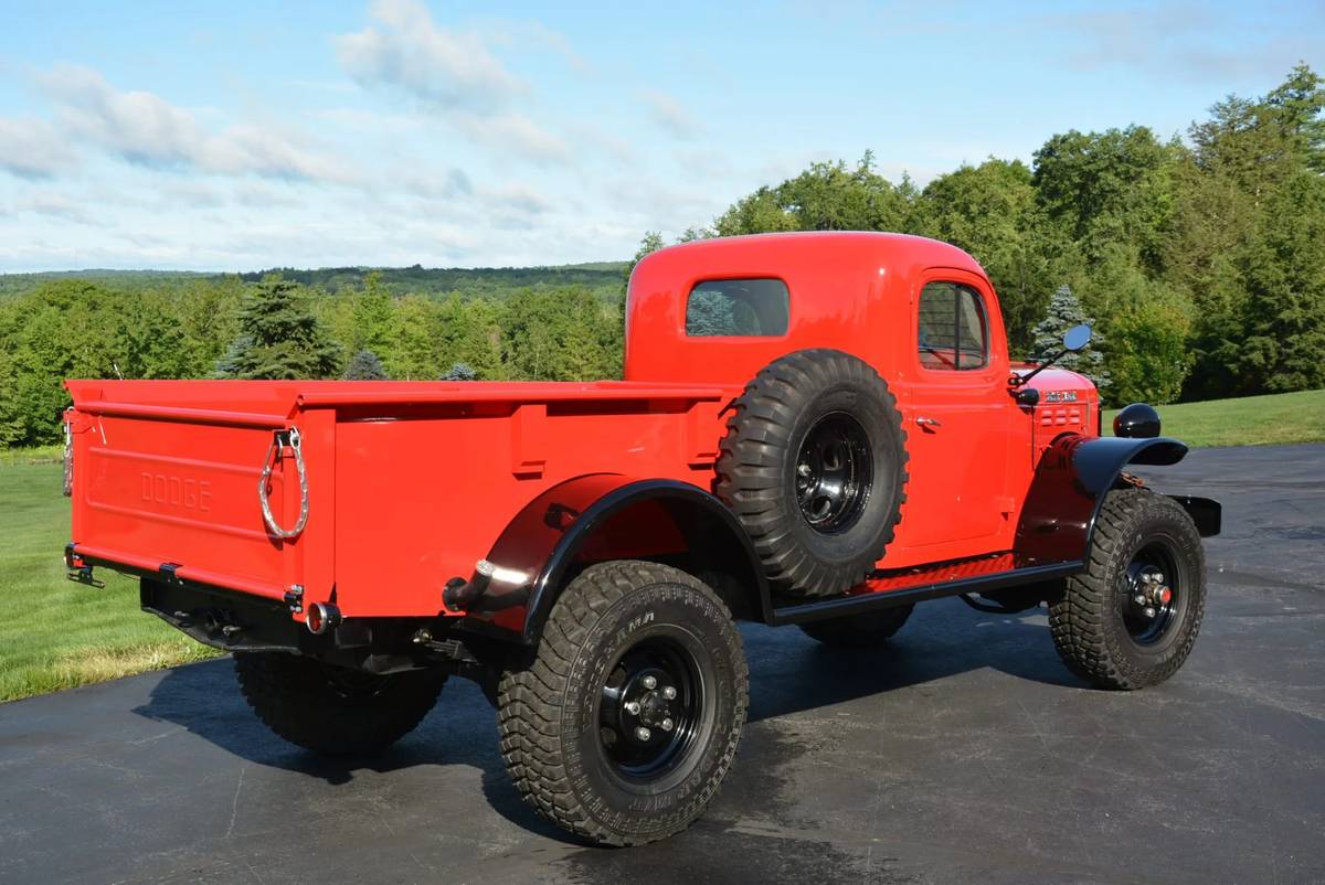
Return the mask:
M1151 477L1226 507L1200 640L1155 689L1079 682L1043 611L926 603L872 653L747 627L723 790L612 851L525 808L468 682L338 766L217 660L0 706L0 882L1325 881L1325 445Z

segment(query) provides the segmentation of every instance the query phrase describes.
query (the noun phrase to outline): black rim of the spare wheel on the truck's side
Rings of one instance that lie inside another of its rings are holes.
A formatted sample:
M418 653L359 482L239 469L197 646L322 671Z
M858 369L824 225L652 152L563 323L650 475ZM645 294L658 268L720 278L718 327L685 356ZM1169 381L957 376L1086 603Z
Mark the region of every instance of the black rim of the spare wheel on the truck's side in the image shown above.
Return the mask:
M796 499L810 527L845 531L865 509L873 481L869 436L845 412L820 417L796 456Z

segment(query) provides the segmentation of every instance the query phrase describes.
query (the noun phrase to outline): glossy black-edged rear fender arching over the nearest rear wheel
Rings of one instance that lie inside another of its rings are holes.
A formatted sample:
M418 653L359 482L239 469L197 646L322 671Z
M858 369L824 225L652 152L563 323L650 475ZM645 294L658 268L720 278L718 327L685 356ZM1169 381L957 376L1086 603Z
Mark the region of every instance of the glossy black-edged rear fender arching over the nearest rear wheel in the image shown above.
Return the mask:
M578 568L607 559L662 559L713 584L738 615L767 620L770 596L750 538L704 489L677 480L594 473L527 503L488 554L498 578L466 608L464 629L538 641Z

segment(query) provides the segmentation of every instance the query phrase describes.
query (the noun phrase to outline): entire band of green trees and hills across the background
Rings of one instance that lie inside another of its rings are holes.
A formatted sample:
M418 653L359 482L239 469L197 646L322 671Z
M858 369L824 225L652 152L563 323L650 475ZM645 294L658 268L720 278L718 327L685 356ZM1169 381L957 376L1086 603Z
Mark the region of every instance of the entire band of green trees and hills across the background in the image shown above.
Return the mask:
M1110 404L1325 387L1322 109L1321 78L1298 65L1264 97L1218 102L1186 139L1069 131L1030 166L990 158L924 188L878 175L869 152L814 163L681 240L856 229L953 242L988 272L1015 355L1093 322L1079 367ZM662 245L647 234L635 261ZM57 440L66 378L616 378L620 273L9 277L0 445Z

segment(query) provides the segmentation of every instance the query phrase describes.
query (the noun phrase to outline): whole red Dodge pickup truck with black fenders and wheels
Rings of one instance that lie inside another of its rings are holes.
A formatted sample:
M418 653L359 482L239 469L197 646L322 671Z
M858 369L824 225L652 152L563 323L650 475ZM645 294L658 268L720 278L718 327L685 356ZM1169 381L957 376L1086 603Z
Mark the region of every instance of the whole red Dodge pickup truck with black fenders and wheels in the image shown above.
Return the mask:
M1102 437L1088 379L1012 363L959 249L662 249L624 375L69 382L70 578L138 575L314 751L380 750L474 678L530 804L617 845L686 827L731 764L739 620L867 647L926 599L1047 603L1068 666L1117 689L1191 649L1220 507L1124 472L1186 446L1143 404Z

